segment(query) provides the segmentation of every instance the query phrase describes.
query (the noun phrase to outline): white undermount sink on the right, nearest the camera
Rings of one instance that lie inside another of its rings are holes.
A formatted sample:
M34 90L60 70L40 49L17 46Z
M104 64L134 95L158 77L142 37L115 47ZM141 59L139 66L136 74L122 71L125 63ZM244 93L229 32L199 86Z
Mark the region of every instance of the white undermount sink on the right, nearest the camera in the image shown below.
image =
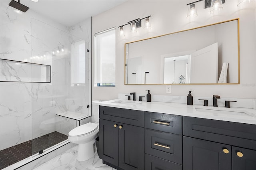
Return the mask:
M195 106L196 111L198 112L209 112L214 114L230 114L230 115L248 115L256 117L254 113L245 111L243 108L226 108L226 107L205 107L205 106Z

